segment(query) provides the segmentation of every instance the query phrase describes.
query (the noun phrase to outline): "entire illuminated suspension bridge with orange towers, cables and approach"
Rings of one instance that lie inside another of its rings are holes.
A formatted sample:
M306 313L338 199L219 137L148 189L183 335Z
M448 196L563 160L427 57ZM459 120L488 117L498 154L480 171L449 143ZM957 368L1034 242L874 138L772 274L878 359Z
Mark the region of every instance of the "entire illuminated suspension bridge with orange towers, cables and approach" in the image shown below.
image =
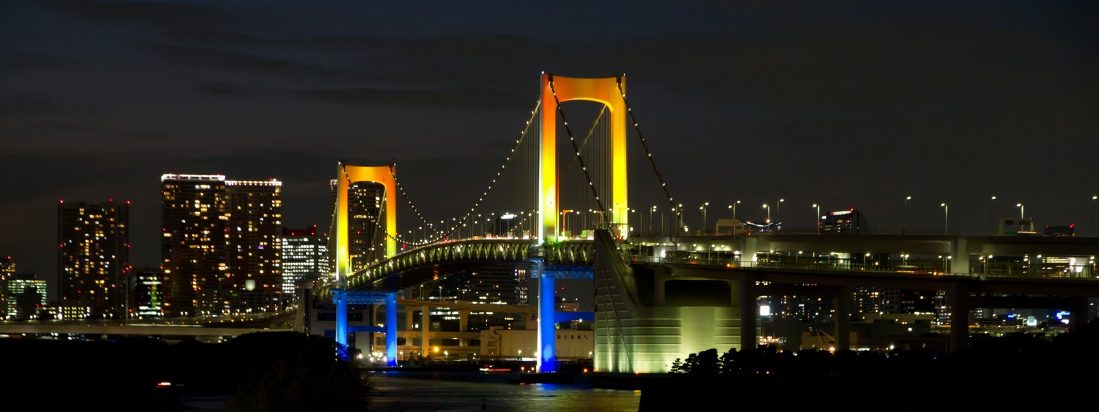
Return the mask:
M582 135L575 134L566 116L563 103L569 101L590 101L600 107ZM562 134L558 129L567 138L565 147L571 152L567 156L557 153ZM631 131L636 137L634 145L628 144ZM637 157L645 166L641 169L651 174L651 183L635 183L633 193L647 190L650 197L662 197L669 204L675 211L670 233L655 235L650 230L647 236L640 236L632 231L630 213L636 210L630 208L626 160L634 149L628 151L628 146L641 149ZM352 332L385 334L390 366L396 366L398 359L396 307L402 290L459 270L501 263L529 265L532 277L539 279L539 372L557 370L554 324L571 320L595 322L596 370L636 374L666 371L674 359L708 348L755 347L759 296L829 296L836 300L837 313L843 313L850 309L850 288L854 286L948 290L957 312L952 318L952 338L959 345L967 324L963 316L975 305L1063 305L1081 316L1087 313L1086 299L1099 297L1096 238L1030 238L1020 243L965 236L797 237L724 234L718 227L687 235L681 208L671 197L626 100L624 76L574 78L543 74L540 98L503 165L477 201L460 218L452 218L451 224L446 220L435 223L420 213L397 179L396 165L340 162L335 171L336 207L330 231L334 234L330 250L335 267L313 289L314 299L335 304L335 338L342 346L346 347ZM348 229L348 191L357 182L384 188L378 213L369 216L379 247L367 256L355 256ZM507 187L511 189L501 190ZM499 196L501 191L507 194ZM419 220L417 226L426 227L421 238L402 235L398 230L398 196ZM509 211L507 224L500 226L493 221L486 227L481 216L490 215L490 210L493 214ZM569 216L571 225L567 224ZM477 226L482 229L477 231ZM400 250L398 244L403 246ZM839 258L828 259L823 266L821 259L809 264L757 257L795 249L799 255L803 250ZM898 270L888 263L866 265L865 259L858 265L857 257L872 249L901 254L919 250L947 258L941 267L921 272ZM1061 270L1028 266L1023 274L1023 268L1018 268L1015 276L1000 276L983 264L986 256L1006 253L1044 253L1080 260ZM972 258L981 264L970 265ZM557 312L554 299L544 298L553 297L555 279L566 278L595 282L595 312ZM1048 298L1024 299L1022 293ZM996 297L1012 300L997 301ZM349 329L348 304L384 304L384 325ZM836 336L843 345L845 326L836 323Z

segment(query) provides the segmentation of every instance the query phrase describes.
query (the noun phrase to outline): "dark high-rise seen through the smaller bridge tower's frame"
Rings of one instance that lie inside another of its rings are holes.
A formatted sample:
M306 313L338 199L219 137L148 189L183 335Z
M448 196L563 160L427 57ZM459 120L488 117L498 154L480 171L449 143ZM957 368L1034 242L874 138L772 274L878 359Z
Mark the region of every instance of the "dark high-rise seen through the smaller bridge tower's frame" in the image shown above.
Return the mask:
M330 180L329 186L329 211L334 216L336 180ZM386 256L385 196L386 187L381 183L359 181L347 188L347 254L352 270L362 269Z

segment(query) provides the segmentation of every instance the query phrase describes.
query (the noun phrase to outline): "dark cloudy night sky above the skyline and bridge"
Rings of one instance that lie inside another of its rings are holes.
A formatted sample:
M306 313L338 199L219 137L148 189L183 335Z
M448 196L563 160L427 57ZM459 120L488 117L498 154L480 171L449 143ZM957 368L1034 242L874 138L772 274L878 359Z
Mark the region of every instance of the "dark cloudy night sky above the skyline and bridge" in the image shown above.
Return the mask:
M788 226L810 226L820 203L889 230L912 196L913 230L941 230L948 213L951 232L985 234L1021 202L1039 226L1099 236L1097 10L3 1L0 255L48 280L54 299L57 201L115 199L133 203L132 264L156 266L165 172L276 178L284 225L323 227L337 159L396 163L429 220L456 216L508 155L543 71L626 76L688 225L702 202L709 219L741 200L739 218L762 220L781 198ZM637 176L631 193L656 192Z

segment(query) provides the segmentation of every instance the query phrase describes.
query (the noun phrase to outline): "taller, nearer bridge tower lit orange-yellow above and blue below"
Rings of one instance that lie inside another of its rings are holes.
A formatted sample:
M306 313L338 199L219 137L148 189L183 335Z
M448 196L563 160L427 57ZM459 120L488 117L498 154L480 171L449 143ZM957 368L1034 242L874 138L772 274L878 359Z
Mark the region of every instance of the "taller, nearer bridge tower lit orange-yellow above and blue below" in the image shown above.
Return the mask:
M576 78L542 74L541 159L539 174L539 214L542 222L535 242L557 241L559 212L559 172L557 170L557 112L559 103L569 100L589 100L604 104L610 113L611 203L608 213L612 224L626 222L626 153L625 153L625 77ZM606 204L604 204L606 207ZM620 238L629 231L610 227ZM537 246L537 245L536 245ZM554 283L556 278L593 278L590 269L546 267L541 256L531 259L532 274L539 278L539 372L557 371L555 324L558 321L586 319L591 313L573 318L556 311ZM564 315L564 316L563 316ZM575 313L573 314L575 315Z

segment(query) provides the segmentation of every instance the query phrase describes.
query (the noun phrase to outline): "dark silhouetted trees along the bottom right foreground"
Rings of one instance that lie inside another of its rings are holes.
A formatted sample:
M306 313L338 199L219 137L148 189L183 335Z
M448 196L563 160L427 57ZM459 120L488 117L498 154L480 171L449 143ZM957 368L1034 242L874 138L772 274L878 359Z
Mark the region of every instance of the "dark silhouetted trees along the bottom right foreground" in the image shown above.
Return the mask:
M1099 367L1097 344L1099 319L1052 338L974 336L965 348L947 354L713 348L677 359L666 378L646 385L642 410L681 408L685 399L791 407L797 400L844 400L912 409L911 402L925 404L928 399L974 400L986 407L1081 400L1096 388L1090 377Z

